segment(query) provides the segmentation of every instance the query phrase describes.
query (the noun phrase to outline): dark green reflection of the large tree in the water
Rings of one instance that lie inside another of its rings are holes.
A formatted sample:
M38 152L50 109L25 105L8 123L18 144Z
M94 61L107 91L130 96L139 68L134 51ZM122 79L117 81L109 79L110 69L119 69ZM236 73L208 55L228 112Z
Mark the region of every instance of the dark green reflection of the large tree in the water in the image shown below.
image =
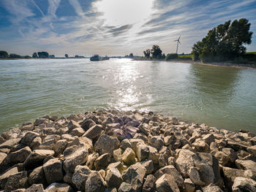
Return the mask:
M239 72L239 69L196 64L189 67L191 82L195 85L193 88L200 93L211 94L216 99L227 99L233 96Z

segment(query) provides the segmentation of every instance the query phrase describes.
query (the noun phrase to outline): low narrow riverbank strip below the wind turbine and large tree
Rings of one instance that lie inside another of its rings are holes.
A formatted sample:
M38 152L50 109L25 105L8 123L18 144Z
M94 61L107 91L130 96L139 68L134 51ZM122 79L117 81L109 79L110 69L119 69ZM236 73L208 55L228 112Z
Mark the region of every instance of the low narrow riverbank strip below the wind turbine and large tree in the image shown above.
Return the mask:
M134 61L165 61L165 59L149 59L149 58L134 58L133 60ZM221 67L231 67L231 68L237 68L237 69L256 69L256 64L233 64L231 62L203 63L200 61L192 61L190 59L172 59L167 62L197 64L197 65L205 65L205 66L221 66Z

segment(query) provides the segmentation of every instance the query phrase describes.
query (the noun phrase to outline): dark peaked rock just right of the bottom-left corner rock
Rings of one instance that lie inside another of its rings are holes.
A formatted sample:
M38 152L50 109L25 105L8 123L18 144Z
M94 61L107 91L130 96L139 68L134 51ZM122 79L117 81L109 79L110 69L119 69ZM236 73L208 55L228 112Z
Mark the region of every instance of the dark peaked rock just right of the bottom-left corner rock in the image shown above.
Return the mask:
M42 166L37 167L34 169L30 174L28 178L28 183L29 185L33 184L45 184L47 183L46 178L45 178L45 172Z

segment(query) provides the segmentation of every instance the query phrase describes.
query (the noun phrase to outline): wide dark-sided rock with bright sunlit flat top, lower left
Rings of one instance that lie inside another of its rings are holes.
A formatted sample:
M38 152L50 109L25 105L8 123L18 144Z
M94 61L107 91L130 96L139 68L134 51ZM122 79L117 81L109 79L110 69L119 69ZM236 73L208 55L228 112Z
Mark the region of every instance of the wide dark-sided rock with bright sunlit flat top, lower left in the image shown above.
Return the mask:
M30 153L29 157L26 158L26 161L24 162L24 167L26 169L34 169L37 166L41 166L44 159L48 155L54 155L53 150L34 150L32 153Z

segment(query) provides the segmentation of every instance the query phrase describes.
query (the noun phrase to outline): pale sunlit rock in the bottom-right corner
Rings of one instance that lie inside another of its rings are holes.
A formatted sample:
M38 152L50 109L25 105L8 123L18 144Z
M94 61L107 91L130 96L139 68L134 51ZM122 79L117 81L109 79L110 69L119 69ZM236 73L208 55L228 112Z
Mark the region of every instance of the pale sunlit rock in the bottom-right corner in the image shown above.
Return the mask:
M256 191L256 182L252 179L236 177L232 186L232 190L234 192Z

